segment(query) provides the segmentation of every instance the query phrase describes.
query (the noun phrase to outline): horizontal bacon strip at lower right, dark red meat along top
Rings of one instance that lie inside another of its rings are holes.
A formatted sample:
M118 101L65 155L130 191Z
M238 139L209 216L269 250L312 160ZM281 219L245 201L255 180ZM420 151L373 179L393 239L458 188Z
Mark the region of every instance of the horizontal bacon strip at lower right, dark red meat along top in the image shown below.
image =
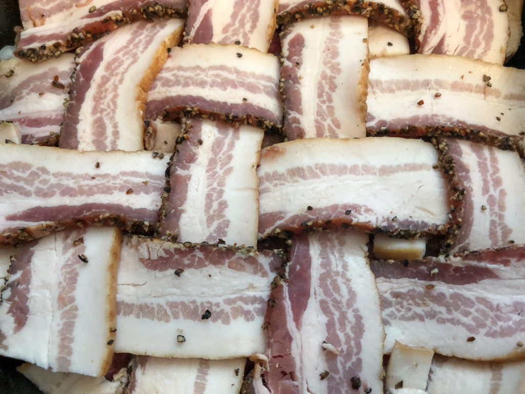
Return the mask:
M372 262L385 352L394 341L468 359L523 357L525 251L511 247L421 262Z

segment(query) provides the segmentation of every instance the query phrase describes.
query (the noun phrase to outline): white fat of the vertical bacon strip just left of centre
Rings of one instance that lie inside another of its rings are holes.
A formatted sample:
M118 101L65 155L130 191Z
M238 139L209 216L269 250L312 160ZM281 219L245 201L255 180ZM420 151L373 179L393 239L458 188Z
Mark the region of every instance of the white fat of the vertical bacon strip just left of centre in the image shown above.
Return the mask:
M217 242L215 225L207 223L206 212L220 210L220 201L227 201L227 208L223 211L229 220L226 236L221 238L228 245L255 246L257 244L258 223L258 178L255 171L258 163L259 151L264 131L251 126L240 126L233 129L227 139L235 139L232 162L227 170L232 170L222 186L224 195L220 200L213 201L214 209L210 210L206 196L209 193L208 185L214 188L221 187L214 179L208 179L208 165L215 158L216 152L212 151L219 135L213 121L204 121L202 127L202 145L198 148L197 161L191 168L191 180L188 182L188 195L182 206L178 226L180 242ZM225 143L227 143L225 141ZM220 165L220 160L217 165ZM215 169L213 169L215 170ZM224 171L219 170L221 173ZM206 208L206 209L205 209Z

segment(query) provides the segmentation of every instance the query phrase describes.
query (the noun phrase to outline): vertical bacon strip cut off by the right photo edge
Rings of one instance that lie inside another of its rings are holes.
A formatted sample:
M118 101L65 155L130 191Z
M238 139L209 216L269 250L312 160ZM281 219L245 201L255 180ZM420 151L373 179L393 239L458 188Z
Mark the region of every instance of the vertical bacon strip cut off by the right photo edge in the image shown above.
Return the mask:
M525 244L525 169L518 154L453 138L444 141L465 190L452 251Z

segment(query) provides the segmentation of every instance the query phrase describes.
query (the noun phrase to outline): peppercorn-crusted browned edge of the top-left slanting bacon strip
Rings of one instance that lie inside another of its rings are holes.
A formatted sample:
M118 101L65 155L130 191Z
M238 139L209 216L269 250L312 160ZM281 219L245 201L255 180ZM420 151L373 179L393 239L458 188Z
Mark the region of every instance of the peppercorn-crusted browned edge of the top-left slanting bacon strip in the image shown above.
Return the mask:
M96 13L103 14L107 11L111 10L106 10L104 7L100 7L91 13L90 16L96 16ZM28 59L33 62L42 61L48 57L58 57L64 52L71 51L83 44L99 39L100 37L111 33L120 25L129 24L134 20L153 20L154 17L186 18L186 14L187 4L184 9L176 9L169 5L164 6L159 3L154 3L141 8L122 10L122 16L112 15L82 26L82 28L77 27L72 30L69 36L55 43L41 45L34 48L18 49L14 54L20 59Z

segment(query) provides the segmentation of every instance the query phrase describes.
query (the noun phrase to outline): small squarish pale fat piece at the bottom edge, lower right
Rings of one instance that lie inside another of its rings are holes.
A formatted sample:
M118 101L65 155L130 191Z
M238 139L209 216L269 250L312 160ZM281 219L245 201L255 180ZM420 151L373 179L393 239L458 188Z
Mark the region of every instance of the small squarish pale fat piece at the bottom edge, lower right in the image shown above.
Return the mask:
M409 347L396 341L388 360L385 388L400 393L394 391L395 386L403 382L404 389L424 391L433 356L433 350Z

